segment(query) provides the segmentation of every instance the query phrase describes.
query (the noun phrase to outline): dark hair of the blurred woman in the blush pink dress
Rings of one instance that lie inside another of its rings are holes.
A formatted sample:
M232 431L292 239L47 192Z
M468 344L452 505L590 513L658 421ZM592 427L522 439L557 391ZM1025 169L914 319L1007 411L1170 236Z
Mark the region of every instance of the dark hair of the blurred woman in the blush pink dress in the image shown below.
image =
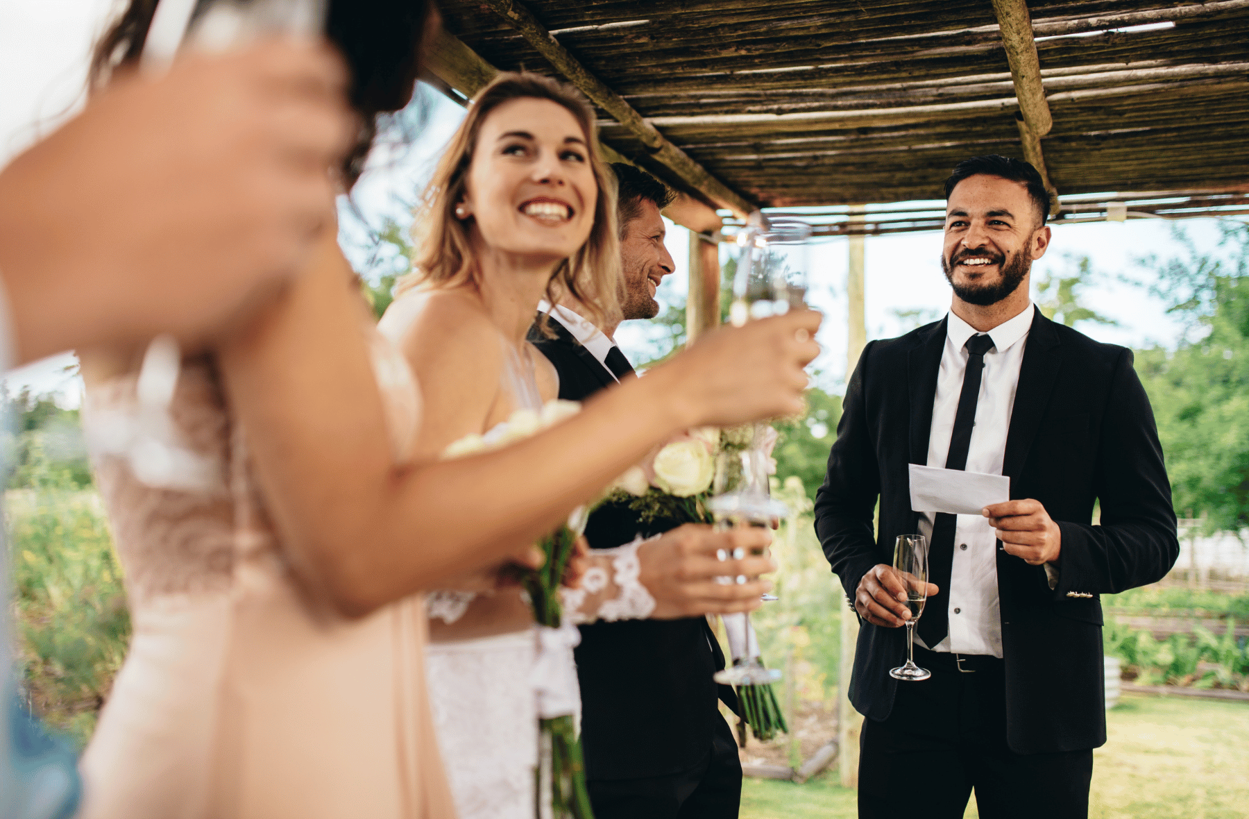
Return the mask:
M96 42L87 84L107 84L112 72L139 60L156 14L157 0L130 0L121 16ZM195 14L204 10L204 0ZM330 0L325 35L347 61L347 99L360 114L360 137L343 160L347 185L355 184L377 132L377 115L408 104L420 72L422 46L436 25L427 0Z

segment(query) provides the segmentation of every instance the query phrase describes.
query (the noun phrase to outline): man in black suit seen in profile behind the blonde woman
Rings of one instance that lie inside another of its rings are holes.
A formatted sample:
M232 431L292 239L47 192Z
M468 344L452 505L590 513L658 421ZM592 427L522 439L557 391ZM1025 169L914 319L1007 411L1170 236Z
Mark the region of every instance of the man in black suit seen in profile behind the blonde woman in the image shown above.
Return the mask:
M612 165L620 181L623 318L654 318L654 291L673 262L659 211L672 194L629 165ZM555 338L537 327L530 341L560 372L560 397L581 401L633 368L612 341L616 326L595 327L572 300L550 311ZM624 506L606 504L590 518L593 548L649 537L682 521L643 523ZM581 627L582 749L596 819L731 819L737 817L742 767L717 697L733 690L712 674L724 667L707 619L621 620Z

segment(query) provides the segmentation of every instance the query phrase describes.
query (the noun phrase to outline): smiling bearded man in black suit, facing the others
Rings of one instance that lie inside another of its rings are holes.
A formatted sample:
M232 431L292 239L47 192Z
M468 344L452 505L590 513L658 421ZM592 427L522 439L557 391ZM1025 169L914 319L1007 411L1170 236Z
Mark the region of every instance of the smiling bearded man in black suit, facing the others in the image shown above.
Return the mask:
M863 623L849 685L867 718L859 815L962 817L974 789L987 818L1087 817L1105 743L1098 596L1175 562L1170 484L1132 352L1029 300L1050 240L1035 169L973 157L945 199L950 312L863 350L816 499ZM1012 499L982 516L913 512L912 463L1008 476ZM916 663L932 678L898 682L908 609L891 563L916 532L932 582Z

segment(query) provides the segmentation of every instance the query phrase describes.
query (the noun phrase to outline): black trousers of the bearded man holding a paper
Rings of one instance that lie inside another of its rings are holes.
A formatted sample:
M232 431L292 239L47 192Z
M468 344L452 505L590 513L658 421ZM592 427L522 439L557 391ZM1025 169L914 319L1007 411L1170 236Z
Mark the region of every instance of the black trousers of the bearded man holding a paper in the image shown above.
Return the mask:
M1087 819L1093 750L1017 754L1007 747L1003 663L916 647L923 682L898 682L893 713L863 720L858 815L962 819L975 792L982 819Z

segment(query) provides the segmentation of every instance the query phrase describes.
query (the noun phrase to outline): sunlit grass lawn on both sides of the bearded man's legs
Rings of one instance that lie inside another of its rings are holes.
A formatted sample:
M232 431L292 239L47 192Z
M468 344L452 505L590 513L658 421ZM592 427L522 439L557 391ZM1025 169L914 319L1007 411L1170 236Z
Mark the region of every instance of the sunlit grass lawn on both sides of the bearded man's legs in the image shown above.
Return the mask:
M1094 752L1093 819L1249 818L1249 704L1124 695ZM854 793L836 770L796 785L748 779L743 819L842 819ZM974 799L967 817L975 817Z

